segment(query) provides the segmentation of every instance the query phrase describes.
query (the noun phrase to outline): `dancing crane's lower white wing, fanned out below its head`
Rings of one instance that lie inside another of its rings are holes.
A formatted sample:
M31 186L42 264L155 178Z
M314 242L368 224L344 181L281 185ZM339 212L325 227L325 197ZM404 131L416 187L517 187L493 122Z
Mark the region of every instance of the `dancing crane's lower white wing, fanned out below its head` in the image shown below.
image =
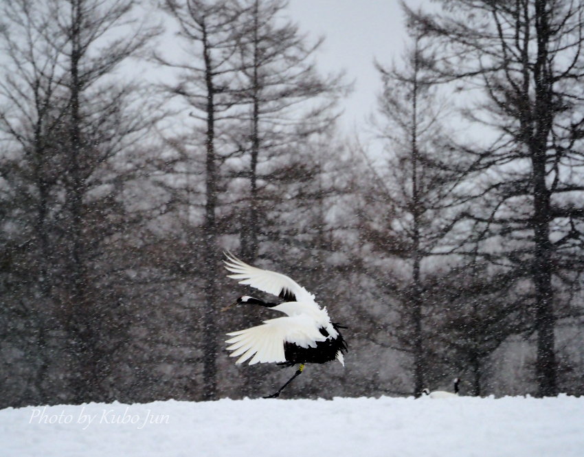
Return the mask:
M308 348L316 347L317 342L326 339L319 332L315 322L306 315L276 317L276 319L264 321L262 325L227 333L227 335L232 337L226 341L230 344L227 350L233 351L229 357L241 356L235 363L242 364L253 356L249 365L258 362L263 364L286 361L285 342Z

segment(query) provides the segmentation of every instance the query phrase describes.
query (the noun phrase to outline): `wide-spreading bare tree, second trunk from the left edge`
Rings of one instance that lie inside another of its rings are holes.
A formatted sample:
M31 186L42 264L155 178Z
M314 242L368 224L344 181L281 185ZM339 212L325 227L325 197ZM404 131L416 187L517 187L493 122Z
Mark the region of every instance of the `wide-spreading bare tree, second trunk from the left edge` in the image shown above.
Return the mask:
M122 320L115 319L120 309L110 295L114 289L103 293L111 276L104 276L106 265L98 259L109 236L123 227L113 223L122 210L114 204L116 182L123 181L119 160L156 118L154 106L147 114L128 115L143 93L109 78L157 33L139 26L109 40L116 27L136 24L132 8L131 1L5 5L10 76L2 87L1 120L18 144L20 170L34 186L34 205L21 211L36 221L37 284L54 302L52 317L60 323L53 337L60 339L61 357L53 362L66 364L67 395L76 402L106 398L110 357L124 340ZM11 179L17 171L12 168ZM111 192L103 192L108 188ZM48 261L42 260L47 253ZM52 324L46 316L45 321Z

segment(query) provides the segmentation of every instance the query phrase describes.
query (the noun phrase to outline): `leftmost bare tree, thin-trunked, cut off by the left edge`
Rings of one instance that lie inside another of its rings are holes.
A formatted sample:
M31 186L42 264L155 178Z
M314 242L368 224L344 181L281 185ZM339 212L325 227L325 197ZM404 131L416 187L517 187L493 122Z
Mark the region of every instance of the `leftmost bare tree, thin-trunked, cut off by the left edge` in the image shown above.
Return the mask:
M18 337L27 346L23 352L29 357L28 369L35 373L27 377L32 381L18 383L28 391L27 398L21 401L37 402L46 398L47 368L52 357L47 334L55 324L51 292L57 279L52 268L56 255L51 245L51 207L56 203L56 184L63 163L51 143L66 106L59 74L65 40L58 40L55 24L43 13L30 2L10 1L3 5L5 27L0 27L7 70L0 83L0 130L2 140L10 144L1 163L3 196L9 199L5 201L2 220L4 227L12 227L3 231L7 267L4 287L12 289L10 296L14 298L3 302L3 311L16 312L11 317L5 315L8 319L3 328L6 341ZM38 40L45 34L54 36L52 46ZM23 318L31 334L8 331L9 322ZM28 346L31 342L36 346ZM18 398L8 384L4 383L8 396Z

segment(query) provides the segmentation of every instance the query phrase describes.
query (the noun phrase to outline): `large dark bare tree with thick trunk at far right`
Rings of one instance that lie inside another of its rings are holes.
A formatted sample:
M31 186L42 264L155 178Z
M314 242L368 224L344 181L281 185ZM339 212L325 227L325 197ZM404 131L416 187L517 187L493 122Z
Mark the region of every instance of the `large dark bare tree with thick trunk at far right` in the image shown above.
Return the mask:
M475 194L491 203L490 209L473 212L475 233L509 241L501 252L507 265L531 266L539 395L556 394L552 279L560 265L568 265L565 254L581 253L582 245L583 208L577 201L583 201L584 190L579 182L584 4L441 3L444 14L407 10L409 20L442 46L434 65L442 80L484 90L486 100L469 118L494 127L498 136L491 146L468 151L475 170L490 179ZM486 245L482 252L488 254ZM570 268L576 263L580 260Z

